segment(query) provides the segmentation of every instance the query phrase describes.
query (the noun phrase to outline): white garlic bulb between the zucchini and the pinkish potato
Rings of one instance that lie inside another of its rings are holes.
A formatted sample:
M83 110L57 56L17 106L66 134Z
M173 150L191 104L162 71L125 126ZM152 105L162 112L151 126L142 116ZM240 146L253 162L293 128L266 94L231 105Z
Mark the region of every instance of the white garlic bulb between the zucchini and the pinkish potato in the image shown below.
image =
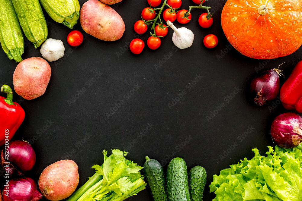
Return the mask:
M65 47L61 40L47 39L41 46L40 52L47 61L56 61L64 56Z

